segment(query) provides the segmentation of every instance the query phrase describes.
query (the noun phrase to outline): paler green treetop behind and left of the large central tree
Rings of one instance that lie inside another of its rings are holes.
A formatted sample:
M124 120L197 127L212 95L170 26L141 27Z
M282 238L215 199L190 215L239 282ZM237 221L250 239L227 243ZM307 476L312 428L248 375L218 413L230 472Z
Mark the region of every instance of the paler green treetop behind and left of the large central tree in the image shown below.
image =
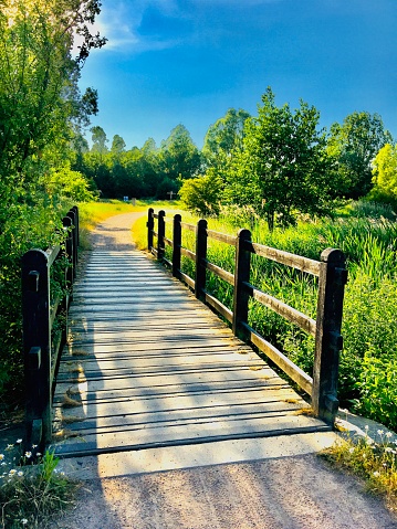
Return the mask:
M244 123L250 114L229 108L223 117L211 125L206 134L202 154L210 166L220 166L242 148Z

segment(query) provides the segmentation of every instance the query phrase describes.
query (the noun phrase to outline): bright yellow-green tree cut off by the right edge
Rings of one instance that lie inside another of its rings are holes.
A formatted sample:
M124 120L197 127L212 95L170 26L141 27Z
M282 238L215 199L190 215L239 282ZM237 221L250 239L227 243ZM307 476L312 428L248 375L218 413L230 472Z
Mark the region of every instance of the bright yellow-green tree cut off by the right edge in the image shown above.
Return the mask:
M373 162L374 189L369 198L397 204L397 145L386 144Z

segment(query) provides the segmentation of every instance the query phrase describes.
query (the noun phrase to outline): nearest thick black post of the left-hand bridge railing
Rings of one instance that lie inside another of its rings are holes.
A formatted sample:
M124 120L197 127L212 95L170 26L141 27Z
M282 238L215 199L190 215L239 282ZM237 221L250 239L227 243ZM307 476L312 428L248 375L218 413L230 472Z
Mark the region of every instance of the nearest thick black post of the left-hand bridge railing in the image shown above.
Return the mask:
M27 389L27 446L50 443L51 322L48 255L30 250L22 257L23 352Z

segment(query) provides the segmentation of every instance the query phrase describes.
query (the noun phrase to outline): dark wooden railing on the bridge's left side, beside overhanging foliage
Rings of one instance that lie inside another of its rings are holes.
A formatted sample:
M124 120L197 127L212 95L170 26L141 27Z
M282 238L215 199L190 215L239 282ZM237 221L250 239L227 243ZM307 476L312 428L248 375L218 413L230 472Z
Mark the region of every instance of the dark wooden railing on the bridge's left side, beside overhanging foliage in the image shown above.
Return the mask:
M62 247L29 250L22 257L25 444L39 449L52 437L54 380L67 338L67 310L77 264L77 207L67 212L62 223ZM52 272L56 271L60 277L55 283Z

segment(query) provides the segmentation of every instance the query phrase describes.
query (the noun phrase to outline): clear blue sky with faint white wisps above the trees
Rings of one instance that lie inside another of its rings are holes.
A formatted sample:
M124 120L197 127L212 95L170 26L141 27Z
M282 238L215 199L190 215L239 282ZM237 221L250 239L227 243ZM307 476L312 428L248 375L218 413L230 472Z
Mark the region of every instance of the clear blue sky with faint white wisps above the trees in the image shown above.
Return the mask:
M103 0L96 25L108 43L81 87L98 91L92 125L109 142L159 145L184 124L202 147L228 108L255 115L267 86L321 126L366 110L397 138L397 0Z

